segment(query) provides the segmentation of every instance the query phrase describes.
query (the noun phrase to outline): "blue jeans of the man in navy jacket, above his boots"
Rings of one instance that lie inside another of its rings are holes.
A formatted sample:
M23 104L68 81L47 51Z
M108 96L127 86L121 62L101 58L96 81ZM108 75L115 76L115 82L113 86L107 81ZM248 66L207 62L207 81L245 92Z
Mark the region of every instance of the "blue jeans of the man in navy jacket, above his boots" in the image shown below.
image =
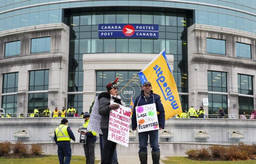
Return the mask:
M147 132L139 133L139 152L147 151L147 141L149 136L150 147L152 148L152 152L159 152L158 145L158 130L151 130Z

